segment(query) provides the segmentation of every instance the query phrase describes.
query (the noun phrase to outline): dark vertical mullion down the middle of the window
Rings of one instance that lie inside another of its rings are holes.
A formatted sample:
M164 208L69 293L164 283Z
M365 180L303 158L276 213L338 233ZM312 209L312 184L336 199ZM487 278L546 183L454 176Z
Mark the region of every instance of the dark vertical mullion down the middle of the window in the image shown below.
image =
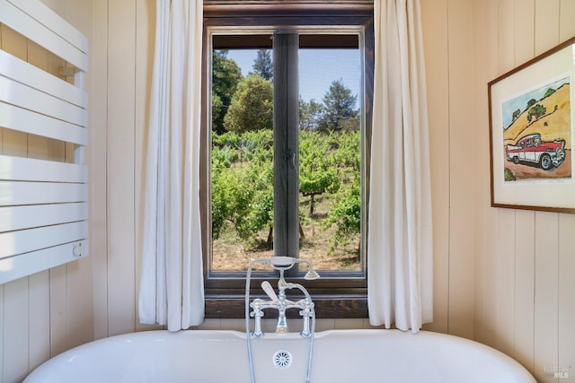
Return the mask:
M297 257L299 248L298 36L274 35L274 255Z

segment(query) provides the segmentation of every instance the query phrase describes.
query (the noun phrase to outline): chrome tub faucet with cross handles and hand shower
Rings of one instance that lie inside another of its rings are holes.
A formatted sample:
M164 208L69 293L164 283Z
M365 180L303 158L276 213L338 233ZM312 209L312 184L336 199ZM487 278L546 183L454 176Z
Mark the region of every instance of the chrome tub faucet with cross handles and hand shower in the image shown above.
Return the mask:
M278 294L274 292L271 284L268 281L261 283L261 288L268 295L270 300L255 299L250 303L252 312L250 312L250 317L254 318L254 331L252 335L262 336L261 331L261 318L263 317L264 309L277 309L278 310L278 325L276 326L277 333L287 333L288 332L288 321L286 317L286 311L288 309L299 309L299 315L304 318L304 326L302 336L308 337L312 334L310 330L310 318L314 318L314 301L310 296L309 292L305 290L305 287L299 283L288 283L284 278L284 272L296 263L305 263L308 266L308 272L305 274L306 280L313 280L319 278L309 261L305 259L296 259L293 257L272 257L269 260L269 264L273 266L274 269L279 270L279 281L278 281ZM290 289L296 289L303 292L305 298L301 300L288 300L286 297L286 291Z

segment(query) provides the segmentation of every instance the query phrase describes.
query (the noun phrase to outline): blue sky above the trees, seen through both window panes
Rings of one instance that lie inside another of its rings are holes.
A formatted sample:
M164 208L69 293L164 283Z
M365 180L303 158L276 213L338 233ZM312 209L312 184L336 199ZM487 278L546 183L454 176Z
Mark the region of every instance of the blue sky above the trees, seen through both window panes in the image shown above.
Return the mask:
M230 49L227 57L242 69L243 75L253 71L257 49ZM342 80L354 96L361 89L361 62L358 49L299 49L299 94L305 101L322 102L332 81Z

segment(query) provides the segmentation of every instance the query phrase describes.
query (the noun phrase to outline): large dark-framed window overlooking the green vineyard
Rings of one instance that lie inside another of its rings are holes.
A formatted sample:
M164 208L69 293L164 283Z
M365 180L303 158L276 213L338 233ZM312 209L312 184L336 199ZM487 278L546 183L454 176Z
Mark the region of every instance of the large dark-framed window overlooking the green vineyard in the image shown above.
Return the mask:
M207 317L241 318L272 255L320 271L318 317L365 316L372 10L231 6L205 8Z

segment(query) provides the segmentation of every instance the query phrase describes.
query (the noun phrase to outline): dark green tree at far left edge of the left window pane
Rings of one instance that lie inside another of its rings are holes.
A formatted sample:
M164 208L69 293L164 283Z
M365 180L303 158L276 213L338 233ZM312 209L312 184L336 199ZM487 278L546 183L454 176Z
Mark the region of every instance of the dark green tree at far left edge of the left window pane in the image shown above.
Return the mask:
M214 50L212 54L212 130L224 133L224 118L237 84L243 80L237 63L227 58L227 50Z

